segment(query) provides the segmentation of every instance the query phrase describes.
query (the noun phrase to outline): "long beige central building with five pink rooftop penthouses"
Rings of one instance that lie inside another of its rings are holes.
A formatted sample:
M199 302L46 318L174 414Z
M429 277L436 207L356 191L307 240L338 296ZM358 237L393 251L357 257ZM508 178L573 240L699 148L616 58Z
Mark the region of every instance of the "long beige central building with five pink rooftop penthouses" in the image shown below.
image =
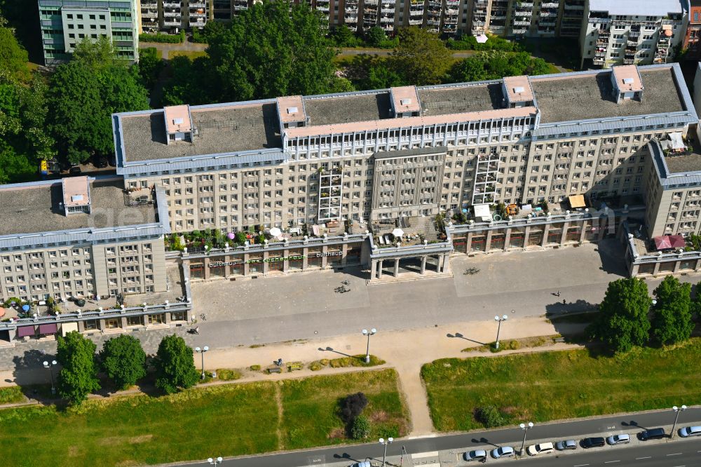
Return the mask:
M125 188L162 187L173 231L237 231L642 194L646 143L696 122L670 64L167 107L114 130Z

